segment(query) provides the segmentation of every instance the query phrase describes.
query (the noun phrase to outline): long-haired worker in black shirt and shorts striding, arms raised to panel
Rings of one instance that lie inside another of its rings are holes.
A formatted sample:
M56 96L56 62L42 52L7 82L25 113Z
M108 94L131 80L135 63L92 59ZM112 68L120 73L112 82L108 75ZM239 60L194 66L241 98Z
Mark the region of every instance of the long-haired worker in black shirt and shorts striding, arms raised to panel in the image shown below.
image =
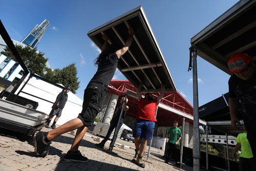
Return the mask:
M100 100L103 99L106 94L108 85L117 69L119 58L126 53L132 45L134 34L133 28L130 27L128 33L129 37L122 48L115 47L113 46L114 44L109 45L108 37L102 35L104 44L100 55L95 60L95 65L98 66L98 70L88 83L86 90L84 90L81 113L77 118L66 122L52 131L35 132L33 141L35 153L38 157L46 157L48 155L52 139L77 129L71 148L64 156L64 159L82 163L88 161L88 158L84 157L78 151L78 147L84 134L86 134L88 127L93 124L95 117L100 111Z

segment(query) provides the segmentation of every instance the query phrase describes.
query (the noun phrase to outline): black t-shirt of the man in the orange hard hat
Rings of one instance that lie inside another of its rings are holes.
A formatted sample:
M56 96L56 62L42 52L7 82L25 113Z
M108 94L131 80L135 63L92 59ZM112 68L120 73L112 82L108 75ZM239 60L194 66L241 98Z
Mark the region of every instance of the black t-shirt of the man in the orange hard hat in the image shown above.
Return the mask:
M249 80L232 75L228 87L229 97L237 98L242 106L247 131L256 132L256 74Z

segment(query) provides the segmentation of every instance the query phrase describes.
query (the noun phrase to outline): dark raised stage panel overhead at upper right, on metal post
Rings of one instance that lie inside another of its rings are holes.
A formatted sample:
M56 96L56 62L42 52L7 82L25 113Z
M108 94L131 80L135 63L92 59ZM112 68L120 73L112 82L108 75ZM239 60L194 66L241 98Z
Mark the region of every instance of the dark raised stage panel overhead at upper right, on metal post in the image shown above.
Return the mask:
M237 52L256 56L256 1L243 0L232 6L191 38L197 54L228 72L228 58Z

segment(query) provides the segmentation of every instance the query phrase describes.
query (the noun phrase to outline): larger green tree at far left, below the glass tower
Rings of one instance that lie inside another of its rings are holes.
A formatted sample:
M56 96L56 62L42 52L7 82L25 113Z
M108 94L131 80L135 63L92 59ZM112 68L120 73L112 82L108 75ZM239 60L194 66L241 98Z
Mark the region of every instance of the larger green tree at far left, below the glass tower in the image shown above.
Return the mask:
M31 73L36 73L40 76L44 76L44 72L46 71L46 62L48 58L44 57L44 53L38 52L36 48L31 48L29 46L23 47L21 45L15 45L20 57L23 59L26 67L29 69ZM10 59L17 62L16 58L13 56L9 47L6 47L4 51L1 52L3 55L7 56L5 61L9 61ZM18 64L14 65L12 69L9 71L8 75L14 70L14 68Z

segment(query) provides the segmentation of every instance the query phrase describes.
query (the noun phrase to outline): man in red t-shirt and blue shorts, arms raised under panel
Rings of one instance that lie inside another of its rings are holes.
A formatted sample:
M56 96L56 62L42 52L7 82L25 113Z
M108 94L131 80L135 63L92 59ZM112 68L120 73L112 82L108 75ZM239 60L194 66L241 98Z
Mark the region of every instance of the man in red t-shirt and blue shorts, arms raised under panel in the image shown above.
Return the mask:
M163 98L164 87L161 86L161 94L154 99L152 93L146 93L145 98L141 98L142 84L138 87L137 98L139 101L139 108L137 112L137 122L133 128L133 137L135 144L135 156L133 162L140 167L145 167L142 157L146 149L147 140L151 140L153 136L153 131L155 127L156 119L156 109L159 101ZM142 142L139 143L139 139L142 138Z

